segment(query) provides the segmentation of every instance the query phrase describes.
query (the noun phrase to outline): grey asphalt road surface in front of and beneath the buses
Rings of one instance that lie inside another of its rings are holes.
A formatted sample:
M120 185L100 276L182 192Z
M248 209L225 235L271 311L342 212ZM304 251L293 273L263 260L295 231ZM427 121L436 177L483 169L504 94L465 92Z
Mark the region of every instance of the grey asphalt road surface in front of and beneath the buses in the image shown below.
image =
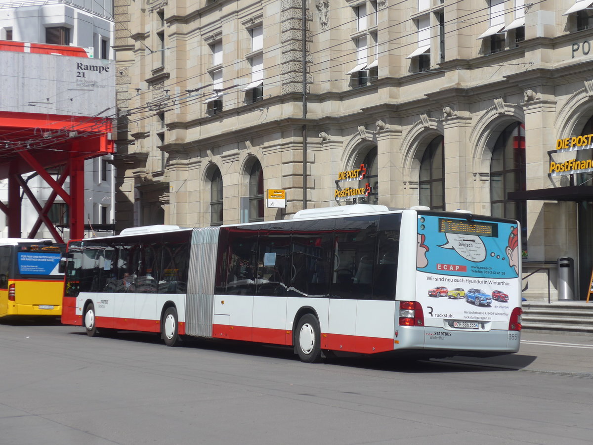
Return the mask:
M461 360L464 363L461 363ZM593 336L490 359L342 358L0 323L0 444L590 444Z

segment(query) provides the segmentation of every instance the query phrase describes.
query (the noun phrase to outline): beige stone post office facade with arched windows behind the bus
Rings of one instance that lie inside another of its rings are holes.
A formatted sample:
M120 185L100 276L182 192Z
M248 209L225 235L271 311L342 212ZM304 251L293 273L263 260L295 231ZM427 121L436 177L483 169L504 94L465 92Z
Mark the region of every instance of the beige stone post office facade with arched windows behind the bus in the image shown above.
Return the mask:
M117 227L355 201L467 209L521 221L528 298L562 256L585 298L591 174L549 170L570 152L557 140L593 134L589 7L116 0ZM361 164L369 195L337 199L339 173ZM268 189L285 208L266 206Z

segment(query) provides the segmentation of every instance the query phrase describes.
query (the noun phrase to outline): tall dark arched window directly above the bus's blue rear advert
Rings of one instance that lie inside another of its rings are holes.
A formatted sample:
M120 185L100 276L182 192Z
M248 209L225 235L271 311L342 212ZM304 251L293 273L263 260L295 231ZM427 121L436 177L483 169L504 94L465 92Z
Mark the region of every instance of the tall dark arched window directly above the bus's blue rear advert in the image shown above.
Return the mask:
M490 213L493 217L521 222L524 245L527 241L525 201L511 201L508 192L525 190L525 125L515 122L506 127L492 150L490 163Z

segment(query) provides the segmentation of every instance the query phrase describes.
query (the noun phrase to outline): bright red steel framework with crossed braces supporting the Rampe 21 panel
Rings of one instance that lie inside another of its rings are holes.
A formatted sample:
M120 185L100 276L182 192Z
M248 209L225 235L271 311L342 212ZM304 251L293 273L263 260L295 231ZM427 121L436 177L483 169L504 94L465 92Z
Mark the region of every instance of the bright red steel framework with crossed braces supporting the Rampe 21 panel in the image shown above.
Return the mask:
M0 50L87 57L83 48L40 43L0 41ZM29 238L36 238L43 223L57 242L64 242L47 217L58 195L69 206L70 238L84 237L84 161L113 153L111 130L107 117L0 111L0 179L8 179L8 202L0 201L0 210L8 216L8 237L21 238L21 192L38 214ZM56 167L60 174L53 179L48 170ZM21 176L31 172L52 189L44 205ZM69 192L63 187L68 177Z

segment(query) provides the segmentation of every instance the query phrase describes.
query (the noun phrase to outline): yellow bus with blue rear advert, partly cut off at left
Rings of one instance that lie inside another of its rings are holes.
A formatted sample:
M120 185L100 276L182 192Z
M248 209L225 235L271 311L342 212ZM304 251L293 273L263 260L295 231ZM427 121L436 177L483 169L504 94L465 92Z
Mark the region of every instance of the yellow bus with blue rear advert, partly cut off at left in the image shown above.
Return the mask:
M65 250L50 240L0 240L0 317L62 314Z

